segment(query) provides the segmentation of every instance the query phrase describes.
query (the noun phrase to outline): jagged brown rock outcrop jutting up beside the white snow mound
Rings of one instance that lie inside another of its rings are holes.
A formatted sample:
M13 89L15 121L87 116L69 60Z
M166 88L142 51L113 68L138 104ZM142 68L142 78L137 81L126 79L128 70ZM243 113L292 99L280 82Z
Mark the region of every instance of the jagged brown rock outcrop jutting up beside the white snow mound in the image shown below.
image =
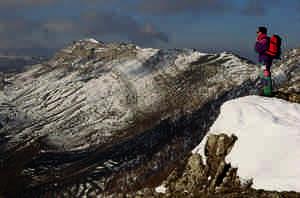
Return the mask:
M237 169L225 162L236 139L225 134L209 136L205 145L207 164L204 165L201 155L193 154L182 173L178 171L169 176L165 184L168 191L176 196L197 197L240 188Z

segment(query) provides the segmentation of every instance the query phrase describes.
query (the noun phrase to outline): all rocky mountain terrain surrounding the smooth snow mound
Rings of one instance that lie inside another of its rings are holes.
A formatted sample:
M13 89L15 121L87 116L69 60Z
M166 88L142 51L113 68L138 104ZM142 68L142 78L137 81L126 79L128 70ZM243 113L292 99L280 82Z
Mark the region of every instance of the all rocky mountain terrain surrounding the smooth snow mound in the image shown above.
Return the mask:
M299 53L287 52L274 66L278 97L299 99ZM223 163L234 137L222 138L226 143L217 157L219 138L212 138L207 168L190 151L221 104L257 93L259 72L255 64L225 52L75 42L47 62L2 77L0 175L7 179L1 179L0 192L168 196L154 192L167 178L172 193L179 193L171 197L251 193L251 185L241 186L236 170Z

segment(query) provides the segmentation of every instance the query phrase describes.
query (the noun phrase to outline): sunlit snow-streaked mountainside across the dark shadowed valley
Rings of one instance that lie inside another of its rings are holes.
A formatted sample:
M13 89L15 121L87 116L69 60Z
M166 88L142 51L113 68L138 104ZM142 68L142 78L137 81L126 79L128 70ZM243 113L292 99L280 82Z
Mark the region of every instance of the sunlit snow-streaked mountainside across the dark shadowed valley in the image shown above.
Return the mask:
M115 131L134 126L137 119L159 115L152 126L181 112L192 112L216 93L241 86L257 75L255 65L228 53L140 48L85 39L9 79L11 84L5 88L9 101L5 102L11 101L32 121L47 122L38 130L24 130L25 134L48 134L51 142L53 134L63 147L82 149L106 142ZM62 132L50 132L57 130ZM85 135L91 139L85 141Z

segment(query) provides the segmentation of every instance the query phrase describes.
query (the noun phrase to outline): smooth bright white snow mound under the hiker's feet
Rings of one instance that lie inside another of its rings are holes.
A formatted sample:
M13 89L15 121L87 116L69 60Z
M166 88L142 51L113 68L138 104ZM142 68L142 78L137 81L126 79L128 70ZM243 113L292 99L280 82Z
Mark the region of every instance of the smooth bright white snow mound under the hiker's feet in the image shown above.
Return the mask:
M247 96L226 102L208 134L238 137L226 161L255 189L300 192L300 104ZM204 156L207 137L194 149Z

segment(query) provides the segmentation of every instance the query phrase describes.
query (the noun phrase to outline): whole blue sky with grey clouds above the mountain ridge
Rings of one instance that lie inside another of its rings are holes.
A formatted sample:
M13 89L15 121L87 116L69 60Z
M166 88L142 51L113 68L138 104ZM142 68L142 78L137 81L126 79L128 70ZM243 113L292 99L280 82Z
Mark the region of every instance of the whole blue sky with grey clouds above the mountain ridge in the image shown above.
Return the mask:
M255 60L256 27L300 46L299 0L0 0L0 53L51 56L73 40L231 51Z

